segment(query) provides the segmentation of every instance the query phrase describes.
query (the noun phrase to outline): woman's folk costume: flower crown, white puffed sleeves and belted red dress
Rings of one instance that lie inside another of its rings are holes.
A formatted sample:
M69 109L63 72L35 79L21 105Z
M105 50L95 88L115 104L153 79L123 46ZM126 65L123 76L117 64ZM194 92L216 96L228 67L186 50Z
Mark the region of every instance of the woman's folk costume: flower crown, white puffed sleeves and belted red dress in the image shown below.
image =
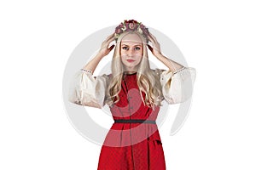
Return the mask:
M148 29L135 20L125 21L116 28L115 36L129 29L143 35ZM148 40L147 40L148 41ZM183 67L172 72L151 70L160 82L162 100L168 104L181 103L191 97L195 82L195 69ZM119 101L109 105L113 125L102 145L98 170L165 170L166 161L156 119L160 106L144 105L145 93L140 93L137 72L123 73ZM102 108L106 105L108 85L112 74L94 77L92 71L81 69L75 75L75 86L69 100L74 104ZM188 88L190 87L190 88Z

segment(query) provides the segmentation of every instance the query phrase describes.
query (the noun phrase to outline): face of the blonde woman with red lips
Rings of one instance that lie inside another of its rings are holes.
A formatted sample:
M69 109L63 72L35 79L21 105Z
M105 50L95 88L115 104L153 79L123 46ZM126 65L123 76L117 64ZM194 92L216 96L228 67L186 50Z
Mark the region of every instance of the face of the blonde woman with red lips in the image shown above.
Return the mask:
M143 41L137 34L127 34L121 41L121 60L126 71L137 71L143 58Z

